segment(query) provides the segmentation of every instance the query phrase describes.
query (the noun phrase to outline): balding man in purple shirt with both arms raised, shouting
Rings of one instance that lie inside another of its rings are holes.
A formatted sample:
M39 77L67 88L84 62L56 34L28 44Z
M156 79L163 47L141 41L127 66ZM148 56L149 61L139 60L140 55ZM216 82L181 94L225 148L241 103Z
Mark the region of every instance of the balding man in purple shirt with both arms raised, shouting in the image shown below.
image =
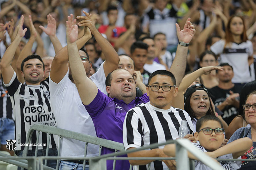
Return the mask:
M90 18L89 13L86 13L86 17ZM195 33L194 26L189 22L189 19L181 31L177 24L177 34L182 45L178 46L176 57L170 69L176 77L177 86L185 72L188 43ZM90 26L90 24L92 23L83 21L78 23L79 26ZM100 92L97 86L86 77L75 43L77 34L77 25L74 25L73 22L67 22L69 65L81 100L92 117L97 136L122 143L123 123L127 111L138 104L147 103L149 98L146 94L140 98L135 98L136 85L133 76L124 69L114 70L107 76L106 90L109 97ZM110 152L113 150L102 149L102 154ZM107 169L112 169L112 164L109 162ZM129 162L117 161L116 169L129 169Z

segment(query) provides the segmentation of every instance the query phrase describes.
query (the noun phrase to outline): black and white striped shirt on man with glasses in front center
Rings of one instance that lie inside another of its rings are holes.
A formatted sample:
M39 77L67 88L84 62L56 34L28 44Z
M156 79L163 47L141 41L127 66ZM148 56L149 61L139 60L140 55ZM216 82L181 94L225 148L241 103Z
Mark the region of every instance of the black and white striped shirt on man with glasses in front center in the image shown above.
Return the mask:
M189 134L195 132L191 118L184 110L174 107L164 110L152 106L150 102L130 109L125 116L123 126L125 150L178 138L182 120L188 122ZM133 166L133 169L146 169L146 165ZM168 167L164 162L154 161L150 169L162 170Z

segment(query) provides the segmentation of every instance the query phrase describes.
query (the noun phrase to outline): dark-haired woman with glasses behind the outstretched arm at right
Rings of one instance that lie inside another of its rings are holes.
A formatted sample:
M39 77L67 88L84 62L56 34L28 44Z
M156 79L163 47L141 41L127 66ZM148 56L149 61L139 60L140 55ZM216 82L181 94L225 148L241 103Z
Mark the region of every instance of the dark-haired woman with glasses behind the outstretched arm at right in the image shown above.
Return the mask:
M200 67L208 67L208 66L217 66L217 56L212 52L212 51L204 51L200 56L199 56L199 65ZM202 81L204 82L204 86L208 89L215 87L219 85L219 81L216 77L216 71L213 70L211 71L210 74L207 75L202 75L201 76Z

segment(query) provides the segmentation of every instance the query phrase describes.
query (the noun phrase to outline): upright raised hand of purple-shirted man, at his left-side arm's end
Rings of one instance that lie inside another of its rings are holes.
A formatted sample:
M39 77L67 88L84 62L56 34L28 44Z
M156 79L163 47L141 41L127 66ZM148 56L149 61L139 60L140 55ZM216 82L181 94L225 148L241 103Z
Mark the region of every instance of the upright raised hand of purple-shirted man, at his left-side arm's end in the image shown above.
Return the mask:
M76 25L76 19L74 19L73 14L70 14L70 16L68 16L66 25L67 42L68 44L74 43L77 40L78 36L78 26Z

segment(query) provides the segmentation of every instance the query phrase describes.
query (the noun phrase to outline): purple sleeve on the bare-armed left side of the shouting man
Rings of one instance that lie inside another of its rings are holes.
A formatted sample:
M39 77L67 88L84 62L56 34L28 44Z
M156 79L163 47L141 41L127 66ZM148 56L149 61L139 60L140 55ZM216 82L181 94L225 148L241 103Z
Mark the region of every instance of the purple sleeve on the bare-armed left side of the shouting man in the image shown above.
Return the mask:
M89 105L84 105L84 107L92 119L94 119L102 113L111 101L112 99L110 97L98 90L98 93L92 102Z

